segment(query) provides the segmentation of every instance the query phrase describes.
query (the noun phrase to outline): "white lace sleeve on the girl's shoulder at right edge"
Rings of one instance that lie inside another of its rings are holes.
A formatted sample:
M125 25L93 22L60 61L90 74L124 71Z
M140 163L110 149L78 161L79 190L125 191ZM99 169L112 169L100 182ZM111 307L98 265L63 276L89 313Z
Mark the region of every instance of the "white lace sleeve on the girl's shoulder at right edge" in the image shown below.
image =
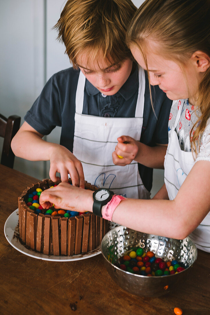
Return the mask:
M200 152L196 162L201 160L210 161L210 119L208 119L207 126L201 136Z

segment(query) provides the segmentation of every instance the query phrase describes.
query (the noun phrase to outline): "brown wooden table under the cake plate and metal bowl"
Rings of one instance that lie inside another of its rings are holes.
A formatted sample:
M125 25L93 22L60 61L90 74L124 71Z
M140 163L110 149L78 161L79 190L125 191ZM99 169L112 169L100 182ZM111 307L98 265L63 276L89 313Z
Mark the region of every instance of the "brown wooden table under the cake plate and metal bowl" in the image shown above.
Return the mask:
M18 196L38 180L0 165L0 314L210 314L210 254L198 258L182 287L159 298L131 295L109 277L102 255L74 262L43 261L15 250L4 223Z

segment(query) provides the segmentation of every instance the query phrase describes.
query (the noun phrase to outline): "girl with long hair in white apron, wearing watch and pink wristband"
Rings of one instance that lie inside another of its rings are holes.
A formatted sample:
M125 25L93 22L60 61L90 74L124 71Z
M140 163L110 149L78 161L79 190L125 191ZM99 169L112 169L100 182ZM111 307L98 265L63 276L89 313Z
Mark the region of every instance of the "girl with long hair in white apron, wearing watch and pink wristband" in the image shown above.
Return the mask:
M135 230L182 239L191 233L210 252L210 2L146 0L131 20L127 42L134 58L173 100L165 184L153 200L112 197L102 216ZM116 147L132 155L133 141ZM139 152L137 152L137 155ZM40 203L92 211L90 191L60 184Z

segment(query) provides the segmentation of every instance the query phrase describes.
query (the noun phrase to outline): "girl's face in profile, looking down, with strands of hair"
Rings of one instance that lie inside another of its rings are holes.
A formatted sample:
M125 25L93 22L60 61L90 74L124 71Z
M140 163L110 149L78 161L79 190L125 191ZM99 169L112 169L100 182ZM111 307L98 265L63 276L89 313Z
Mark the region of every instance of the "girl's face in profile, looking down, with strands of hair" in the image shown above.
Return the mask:
M157 44L152 41L147 47L147 65L149 69L149 79L151 85L159 85L159 88L166 93L170 100L194 98L198 81L195 75L193 64L189 62L185 65L185 72L172 60L166 60L154 51L157 51ZM130 46L131 53L143 68L147 69L143 55L135 44ZM159 48L161 52L161 48Z

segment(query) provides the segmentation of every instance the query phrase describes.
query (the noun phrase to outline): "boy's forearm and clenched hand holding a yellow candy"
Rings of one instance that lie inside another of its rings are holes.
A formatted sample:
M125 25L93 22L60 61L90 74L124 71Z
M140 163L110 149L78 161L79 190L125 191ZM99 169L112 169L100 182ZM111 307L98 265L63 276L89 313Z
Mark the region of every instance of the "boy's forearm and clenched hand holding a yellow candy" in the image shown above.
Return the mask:
M164 169L164 157L167 144L147 146L129 136L121 136L118 139L115 151L112 153L113 163L125 166L133 160L154 169ZM120 158L120 157L123 158Z

